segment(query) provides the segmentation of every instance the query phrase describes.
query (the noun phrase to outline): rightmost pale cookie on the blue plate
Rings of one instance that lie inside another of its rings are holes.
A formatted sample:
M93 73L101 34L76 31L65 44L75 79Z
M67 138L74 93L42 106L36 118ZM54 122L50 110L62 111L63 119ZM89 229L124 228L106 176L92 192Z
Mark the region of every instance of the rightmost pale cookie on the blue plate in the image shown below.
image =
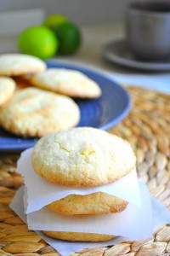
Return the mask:
M101 96L99 84L77 70L49 68L31 77L31 83L66 96L81 98Z

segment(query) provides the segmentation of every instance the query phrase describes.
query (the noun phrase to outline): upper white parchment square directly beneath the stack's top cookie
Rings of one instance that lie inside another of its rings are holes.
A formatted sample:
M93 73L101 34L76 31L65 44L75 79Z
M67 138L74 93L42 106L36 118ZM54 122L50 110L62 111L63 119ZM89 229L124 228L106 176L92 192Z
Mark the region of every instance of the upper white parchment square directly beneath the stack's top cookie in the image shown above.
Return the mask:
M39 177L37 173L33 171L31 166L31 152L32 148L26 149L26 151L21 154L17 165L17 172L20 172L20 174L24 176L26 183L26 213L40 210L42 207L48 205L52 201L59 200L66 195L87 195L99 191L108 193L110 195L116 195L126 201L129 201L137 207L141 207L139 183L135 169L118 181L105 186L98 186L88 189L59 186L49 183L42 177Z

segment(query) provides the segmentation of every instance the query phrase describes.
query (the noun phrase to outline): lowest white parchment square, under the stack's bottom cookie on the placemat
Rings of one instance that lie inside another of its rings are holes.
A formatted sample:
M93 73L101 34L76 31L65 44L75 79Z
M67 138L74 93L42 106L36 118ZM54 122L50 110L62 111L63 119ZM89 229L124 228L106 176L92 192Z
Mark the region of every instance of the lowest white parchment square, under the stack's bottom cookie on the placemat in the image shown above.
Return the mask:
M148 189L142 183L140 186L141 188L145 190L147 195L147 198L144 198L144 201L148 200ZM16 194L14 195L14 200L11 202L10 207L20 216L20 218L27 224L27 215L24 213L24 204L23 204L23 190L24 187L21 187ZM144 192L144 193L145 193ZM142 193L143 195L143 193ZM170 214L167 212L167 209L161 205L159 201L157 201L155 198L151 199L151 208L152 208L152 215L153 218L150 219L150 225L152 225L152 219L153 219L153 226L154 229L159 227L161 224L170 224ZM137 227L136 227L137 228ZM129 230L131 231L131 230ZM42 239L44 239L48 244L52 247L54 247L56 250L59 251L63 256L68 256L70 253L78 252L82 250L82 248L92 248L92 247L106 247L109 245L115 245L121 241L128 241L130 240L128 237L118 237L116 239L113 239L111 241L104 241L104 242L78 242L78 241L59 241L52 238L49 238L48 236L45 236L41 231L37 231L37 234L39 236L42 236ZM145 233L144 236L147 236ZM149 236L149 234L148 234Z

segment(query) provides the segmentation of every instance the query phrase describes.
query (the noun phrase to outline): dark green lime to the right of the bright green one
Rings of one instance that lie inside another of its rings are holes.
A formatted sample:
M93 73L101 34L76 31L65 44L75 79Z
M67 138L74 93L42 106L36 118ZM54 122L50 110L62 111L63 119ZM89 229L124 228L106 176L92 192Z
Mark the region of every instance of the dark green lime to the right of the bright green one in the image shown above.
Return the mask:
M59 39L59 54L71 55L77 51L81 44L81 31L77 25L61 23L54 28L54 32Z

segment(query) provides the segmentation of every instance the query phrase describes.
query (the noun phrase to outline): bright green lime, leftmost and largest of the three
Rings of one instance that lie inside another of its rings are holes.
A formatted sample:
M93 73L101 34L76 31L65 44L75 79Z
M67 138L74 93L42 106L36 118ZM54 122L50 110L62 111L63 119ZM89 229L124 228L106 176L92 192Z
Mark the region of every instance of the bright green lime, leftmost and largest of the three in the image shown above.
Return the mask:
M48 27L31 26L20 32L18 46L21 53L46 60L56 54L58 40Z

